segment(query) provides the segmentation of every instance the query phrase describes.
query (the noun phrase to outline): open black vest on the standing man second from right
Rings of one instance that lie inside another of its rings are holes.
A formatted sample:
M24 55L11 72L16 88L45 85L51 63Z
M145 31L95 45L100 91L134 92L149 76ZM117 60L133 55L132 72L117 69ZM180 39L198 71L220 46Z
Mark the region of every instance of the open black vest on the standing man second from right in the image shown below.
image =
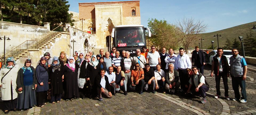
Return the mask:
M219 60L218 60L218 55L213 57L213 62L214 62L214 74L216 74L217 76L219 75ZM223 68L223 73L227 73L228 69L229 69L229 65L228 65L228 60L226 58L226 56L222 55L221 56L221 64L223 64L222 68Z

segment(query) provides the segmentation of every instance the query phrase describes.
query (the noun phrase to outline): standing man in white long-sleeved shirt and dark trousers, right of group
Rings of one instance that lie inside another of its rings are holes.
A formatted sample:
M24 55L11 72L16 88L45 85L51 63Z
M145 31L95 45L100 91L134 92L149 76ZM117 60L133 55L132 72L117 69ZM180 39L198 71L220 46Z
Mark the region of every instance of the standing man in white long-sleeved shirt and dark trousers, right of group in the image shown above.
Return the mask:
M184 53L184 49L180 48L179 49L180 54L177 56L175 59L175 69L179 72L179 77L180 77L180 88L182 91L186 91L188 87L188 74L187 74L187 68L191 68L192 64L191 61Z

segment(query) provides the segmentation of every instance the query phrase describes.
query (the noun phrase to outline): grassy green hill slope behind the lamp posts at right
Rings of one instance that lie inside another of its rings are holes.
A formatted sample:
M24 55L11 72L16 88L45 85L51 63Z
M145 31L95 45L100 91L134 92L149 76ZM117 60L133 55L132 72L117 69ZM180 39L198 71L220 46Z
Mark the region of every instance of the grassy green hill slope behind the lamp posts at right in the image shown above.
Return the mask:
M211 45L211 41L214 41L214 46L218 47L217 43L217 37L213 38L214 35L221 35L222 37L219 37L219 46L224 47L226 43L226 39L230 39L230 41L233 43L234 38L236 38L238 41L238 36L243 36L246 38L246 33L253 28L253 25L256 24L256 21L251 23L246 23L243 25L234 26L231 28L227 28L224 30L214 31L210 33L202 33L200 34L201 38L203 38L203 49L208 48L208 46ZM253 31L253 34L256 35L256 31ZM198 41L199 42L199 41ZM201 41L200 41L201 42ZM198 44L197 44L198 45Z

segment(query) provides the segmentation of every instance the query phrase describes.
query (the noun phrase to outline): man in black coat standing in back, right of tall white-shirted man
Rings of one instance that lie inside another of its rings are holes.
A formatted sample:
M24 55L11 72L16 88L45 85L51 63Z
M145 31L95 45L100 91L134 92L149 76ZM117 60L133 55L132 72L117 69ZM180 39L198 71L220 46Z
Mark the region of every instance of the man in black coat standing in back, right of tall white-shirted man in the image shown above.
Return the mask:
M195 50L192 52L192 64L196 66L200 73L203 74L203 67L205 65L205 54L203 54L203 51L199 49L198 46L195 47Z

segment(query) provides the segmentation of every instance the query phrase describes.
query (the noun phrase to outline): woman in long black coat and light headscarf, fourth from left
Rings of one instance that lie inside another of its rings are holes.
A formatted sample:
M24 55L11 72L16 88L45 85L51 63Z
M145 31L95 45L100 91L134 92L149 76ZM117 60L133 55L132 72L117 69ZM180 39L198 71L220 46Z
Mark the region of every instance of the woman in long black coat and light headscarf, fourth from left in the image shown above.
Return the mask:
M51 84L51 100L50 103L59 103L61 100L61 94L63 93L63 83L62 80L64 76L62 75L61 64L58 57L53 57L53 62L49 69L49 81Z

